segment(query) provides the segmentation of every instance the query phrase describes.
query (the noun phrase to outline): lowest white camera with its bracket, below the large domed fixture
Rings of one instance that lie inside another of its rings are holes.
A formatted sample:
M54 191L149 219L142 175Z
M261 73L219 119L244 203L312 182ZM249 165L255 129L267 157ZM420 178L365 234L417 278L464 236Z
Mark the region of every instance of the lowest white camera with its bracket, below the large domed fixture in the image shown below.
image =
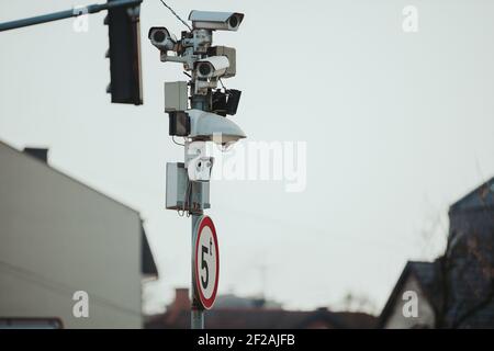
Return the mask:
M186 168L190 181L209 182L211 180L213 161L213 157L206 156L205 141L186 144Z

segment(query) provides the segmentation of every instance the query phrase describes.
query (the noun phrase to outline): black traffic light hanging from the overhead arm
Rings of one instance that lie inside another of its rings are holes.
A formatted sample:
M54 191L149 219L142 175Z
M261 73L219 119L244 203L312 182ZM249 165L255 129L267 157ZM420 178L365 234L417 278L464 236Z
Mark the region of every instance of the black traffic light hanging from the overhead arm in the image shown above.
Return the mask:
M108 0L109 3L119 0ZM108 10L104 24L109 26L111 81L106 92L112 102L143 103L141 77L141 4L119 7Z

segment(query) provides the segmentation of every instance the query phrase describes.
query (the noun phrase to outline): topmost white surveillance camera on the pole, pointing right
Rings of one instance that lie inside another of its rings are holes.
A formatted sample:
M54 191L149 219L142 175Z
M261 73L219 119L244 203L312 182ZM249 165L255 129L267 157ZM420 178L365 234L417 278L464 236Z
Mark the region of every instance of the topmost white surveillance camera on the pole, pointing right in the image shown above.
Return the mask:
M244 20L244 13L214 12L193 10L189 14L189 21L195 30L211 31L237 31Z

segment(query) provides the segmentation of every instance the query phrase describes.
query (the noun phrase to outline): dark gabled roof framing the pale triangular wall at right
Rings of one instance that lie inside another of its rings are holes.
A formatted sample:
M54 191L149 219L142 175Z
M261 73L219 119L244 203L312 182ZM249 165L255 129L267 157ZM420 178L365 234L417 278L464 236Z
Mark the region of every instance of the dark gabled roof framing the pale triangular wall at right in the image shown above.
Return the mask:
M436 260L434 262L418 262L408 261L400 275L396 285L394 286L390 298L388 299L381 316L379 317L378 326L382 328L393 312L393 307L396 301L401 299L400 293L403 291L405 283L408 281L409 276L414 276L424 295L437 312L441 304L441 274L440 274L440 261Z

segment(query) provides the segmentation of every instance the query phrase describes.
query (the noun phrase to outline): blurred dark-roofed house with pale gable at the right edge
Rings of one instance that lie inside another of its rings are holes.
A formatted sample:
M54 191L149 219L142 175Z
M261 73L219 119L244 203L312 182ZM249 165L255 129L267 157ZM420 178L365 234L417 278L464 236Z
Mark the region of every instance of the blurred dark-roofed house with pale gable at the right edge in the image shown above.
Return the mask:
M382 328L494 328L494 178L449 208L446 252L408 262L381 314ZM418 316L402 313L418 295Z

